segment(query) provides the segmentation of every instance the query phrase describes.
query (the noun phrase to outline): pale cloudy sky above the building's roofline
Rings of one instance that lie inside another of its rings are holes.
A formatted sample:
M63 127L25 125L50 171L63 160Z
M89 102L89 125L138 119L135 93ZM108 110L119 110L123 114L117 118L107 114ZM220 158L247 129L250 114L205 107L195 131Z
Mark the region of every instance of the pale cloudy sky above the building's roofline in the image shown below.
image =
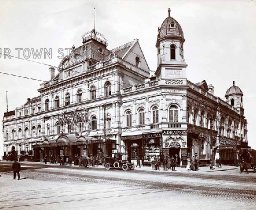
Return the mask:
M256 149L256 0L0 0L0 53L8 50L13 56L41 62L0 54L0 72L49 80L49 67L42 63L58 66L58 49L81 45L82 35L94 26L94 13L95 28L108 40L109 49L139 39L154 72L157 29L168 8L184 32L187 78L206 80L222 99L235 81L244 93L249 145ZM32 48L51 49L52 56L33 59ZM39 95L40 83L0 73L0 115L7 110L6 91L10 111ZM0 156L1 150L0 146Z

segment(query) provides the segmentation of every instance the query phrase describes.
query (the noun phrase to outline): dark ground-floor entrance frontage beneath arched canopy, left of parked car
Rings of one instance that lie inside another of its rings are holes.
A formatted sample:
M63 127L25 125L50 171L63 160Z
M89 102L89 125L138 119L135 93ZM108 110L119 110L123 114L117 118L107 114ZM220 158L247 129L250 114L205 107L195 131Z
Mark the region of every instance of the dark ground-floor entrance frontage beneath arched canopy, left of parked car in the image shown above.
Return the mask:
M112 155L113 147L115 141L111 139L62 135L54 141L45 138L44 142L34 145L34 160L78 164L80 157L86 157L101 164L105 156Z

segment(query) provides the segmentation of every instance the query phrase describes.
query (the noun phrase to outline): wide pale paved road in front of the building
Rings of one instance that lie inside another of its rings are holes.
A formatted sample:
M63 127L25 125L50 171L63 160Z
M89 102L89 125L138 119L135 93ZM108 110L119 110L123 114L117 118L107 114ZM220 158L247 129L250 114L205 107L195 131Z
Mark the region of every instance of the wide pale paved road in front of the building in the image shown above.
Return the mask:
M48 166L2 173L0 209L256 209L255 175Z

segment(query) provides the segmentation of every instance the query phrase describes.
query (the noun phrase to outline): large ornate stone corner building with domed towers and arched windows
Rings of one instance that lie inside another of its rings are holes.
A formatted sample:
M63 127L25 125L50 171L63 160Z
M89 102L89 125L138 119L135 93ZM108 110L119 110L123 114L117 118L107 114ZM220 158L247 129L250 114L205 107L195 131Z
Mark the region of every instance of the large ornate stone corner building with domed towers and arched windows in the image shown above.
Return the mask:
M222 100L206 81L189 81L184 42L169 10L158 28L158 65L150 76L138 40L109 50L103 35L86 33L57 74L50 68L39 96L4 113L5 155L12 148L35 160L122 153L144 164L173 156L184 166L188 158L203 163L218 154L234 162L247 142L243 93L233 83Z

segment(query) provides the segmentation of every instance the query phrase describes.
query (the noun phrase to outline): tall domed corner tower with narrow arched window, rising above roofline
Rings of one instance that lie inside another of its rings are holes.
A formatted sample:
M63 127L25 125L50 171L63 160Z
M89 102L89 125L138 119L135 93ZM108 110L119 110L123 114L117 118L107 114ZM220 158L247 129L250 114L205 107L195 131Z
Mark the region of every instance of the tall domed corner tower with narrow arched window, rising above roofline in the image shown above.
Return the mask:
M170 16L165 18L157 34L157 70L159 79L186 78L187 64L183 55L185 42L182 28L178 21Z

